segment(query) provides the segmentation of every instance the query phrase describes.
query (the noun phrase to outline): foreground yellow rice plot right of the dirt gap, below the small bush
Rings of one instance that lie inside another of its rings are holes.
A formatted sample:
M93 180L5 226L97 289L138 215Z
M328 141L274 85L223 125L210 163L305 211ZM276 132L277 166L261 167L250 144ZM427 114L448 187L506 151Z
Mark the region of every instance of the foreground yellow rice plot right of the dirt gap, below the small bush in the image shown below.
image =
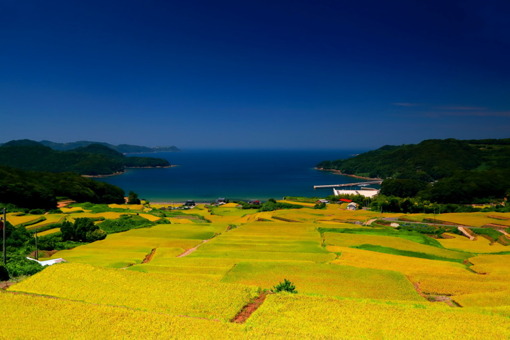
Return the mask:
M466 322L474 321L476 322ZM248 327L287 338L444 339L508 336L510 319L429 303L380 303L298 295L271 295ZM334 334L332 336L332 334ZM462 334L462 336L461 336Z

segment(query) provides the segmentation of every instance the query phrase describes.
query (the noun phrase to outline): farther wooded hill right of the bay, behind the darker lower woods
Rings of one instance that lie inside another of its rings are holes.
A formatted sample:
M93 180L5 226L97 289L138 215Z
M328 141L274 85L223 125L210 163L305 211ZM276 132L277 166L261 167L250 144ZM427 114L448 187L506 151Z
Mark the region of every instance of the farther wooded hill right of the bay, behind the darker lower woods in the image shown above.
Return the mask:
M484 141L430 139L419 144L386 145L353 158L323 161L317 168L336 169L345 174L378 178L414 178L436 180L462 170L508 168L510 139L491 146ZM493 142L494 143L494 142Z

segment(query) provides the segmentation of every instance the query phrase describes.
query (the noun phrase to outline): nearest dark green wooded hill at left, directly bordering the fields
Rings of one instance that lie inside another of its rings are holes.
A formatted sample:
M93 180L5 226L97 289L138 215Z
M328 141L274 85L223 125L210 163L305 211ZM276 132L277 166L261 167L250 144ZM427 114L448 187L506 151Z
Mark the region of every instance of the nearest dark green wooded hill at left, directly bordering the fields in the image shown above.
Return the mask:
M124 203L124 191L73 172L24 171L0 166L0 203L49 210L57 197L79 202Z

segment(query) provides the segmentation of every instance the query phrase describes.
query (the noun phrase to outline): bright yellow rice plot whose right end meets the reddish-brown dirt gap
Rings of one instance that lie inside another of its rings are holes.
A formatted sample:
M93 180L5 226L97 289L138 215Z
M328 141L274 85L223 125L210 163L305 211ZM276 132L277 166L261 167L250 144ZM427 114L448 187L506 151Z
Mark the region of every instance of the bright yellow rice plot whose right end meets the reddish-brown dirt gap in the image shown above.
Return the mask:
M223 321L234 318L258 293L257 287L190 278L187 281L183 285L170 275L63 264L49 267L9 291Z

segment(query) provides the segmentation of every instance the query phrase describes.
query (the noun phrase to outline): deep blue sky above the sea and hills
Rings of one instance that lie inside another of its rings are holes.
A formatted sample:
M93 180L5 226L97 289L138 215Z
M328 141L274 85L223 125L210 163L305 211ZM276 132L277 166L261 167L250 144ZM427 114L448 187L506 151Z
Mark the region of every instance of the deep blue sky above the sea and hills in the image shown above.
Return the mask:
M508 1L0 1L0 142L510 137Z

